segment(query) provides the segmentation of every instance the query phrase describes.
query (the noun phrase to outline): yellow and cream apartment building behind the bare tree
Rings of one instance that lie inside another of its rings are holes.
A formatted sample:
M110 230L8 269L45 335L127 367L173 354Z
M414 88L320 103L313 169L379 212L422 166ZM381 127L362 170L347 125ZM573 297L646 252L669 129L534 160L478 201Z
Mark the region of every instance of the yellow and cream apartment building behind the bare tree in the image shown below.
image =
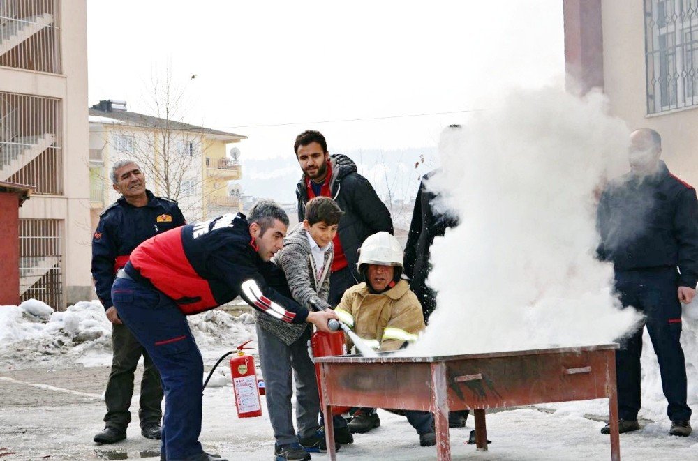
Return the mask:
M89 109L91 227L119 195L109 178L114 161L134 160L155 195L179 202L188 221L242 211L240 151L246 136L138 114L126 102L102 100ZM230 156L227 154L230 153Z

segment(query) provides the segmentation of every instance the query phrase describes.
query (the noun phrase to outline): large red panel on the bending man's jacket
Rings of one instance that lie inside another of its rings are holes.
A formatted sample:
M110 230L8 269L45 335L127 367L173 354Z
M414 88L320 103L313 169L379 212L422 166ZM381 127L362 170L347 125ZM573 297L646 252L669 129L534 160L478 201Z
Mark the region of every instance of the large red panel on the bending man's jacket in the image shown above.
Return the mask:
M184 227L158 234L131 253L131 264L140 275L174 300L185 315L198 314L218 305L209 282L189 263L181 243ZM199 299L196 299L199 298Z

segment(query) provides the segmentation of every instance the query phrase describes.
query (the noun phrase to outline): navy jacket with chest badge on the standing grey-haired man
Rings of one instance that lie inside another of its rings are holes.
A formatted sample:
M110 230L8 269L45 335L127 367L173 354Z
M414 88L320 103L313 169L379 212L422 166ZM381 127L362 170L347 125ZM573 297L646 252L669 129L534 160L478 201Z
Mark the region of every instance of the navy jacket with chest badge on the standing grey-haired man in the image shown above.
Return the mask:
M105 309L112 306L112 284L117 270L126 266L131 252L152 236L186 224L177 202L146 191L148 203L133 206L124 197L99 216L92 236L92 278Z

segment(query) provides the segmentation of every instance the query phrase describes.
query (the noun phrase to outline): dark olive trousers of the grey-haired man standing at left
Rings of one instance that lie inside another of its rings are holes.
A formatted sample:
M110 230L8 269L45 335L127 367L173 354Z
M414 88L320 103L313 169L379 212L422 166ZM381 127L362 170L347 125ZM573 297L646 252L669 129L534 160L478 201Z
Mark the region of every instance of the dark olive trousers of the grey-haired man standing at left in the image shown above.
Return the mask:
M125 325L112 325L112 349L112 371L104 393L107 404L104 422L117 430L126 430L126 426L131 422L128 407L131 406L133 398L133 373L140 356L143 356L145 369L140 381L138 419L141 428L150 424L160 425L163 417L163 388L160 385L160 373L150 356Z

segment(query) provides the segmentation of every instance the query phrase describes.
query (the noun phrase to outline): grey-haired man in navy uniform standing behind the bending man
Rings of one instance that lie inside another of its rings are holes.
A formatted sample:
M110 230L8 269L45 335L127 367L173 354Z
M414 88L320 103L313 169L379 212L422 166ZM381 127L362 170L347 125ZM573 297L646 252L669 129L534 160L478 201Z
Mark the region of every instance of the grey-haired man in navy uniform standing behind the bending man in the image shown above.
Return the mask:
M121 197L101 213L92 236L92 277L99 301L112 323L114 352L104 393L105 428L94 436L98 444L113 444L126 438L126 426L131 422L128 407L133 397L134 372L141 356L144 363L138 411L141 434L148 439L161 437L163 389L160 374L142 345L121 324L112 303L111 289L117 271L126 265L131 252L140 243L186 224L177 202L156 197L145 188L145 177L132 160L114 162L110 177L114 190L121 193Z

